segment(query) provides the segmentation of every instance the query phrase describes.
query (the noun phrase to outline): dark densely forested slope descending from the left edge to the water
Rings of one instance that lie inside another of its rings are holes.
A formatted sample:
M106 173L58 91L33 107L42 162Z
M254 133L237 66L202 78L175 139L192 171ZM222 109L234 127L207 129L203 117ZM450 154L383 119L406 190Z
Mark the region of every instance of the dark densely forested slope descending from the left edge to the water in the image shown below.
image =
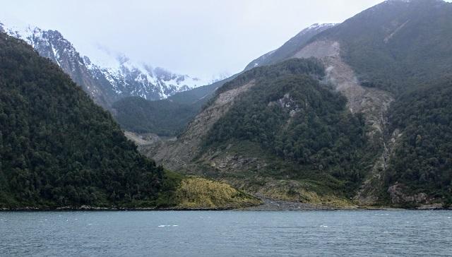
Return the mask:
M0 34L0 208L149 206L164 177L57 65Z

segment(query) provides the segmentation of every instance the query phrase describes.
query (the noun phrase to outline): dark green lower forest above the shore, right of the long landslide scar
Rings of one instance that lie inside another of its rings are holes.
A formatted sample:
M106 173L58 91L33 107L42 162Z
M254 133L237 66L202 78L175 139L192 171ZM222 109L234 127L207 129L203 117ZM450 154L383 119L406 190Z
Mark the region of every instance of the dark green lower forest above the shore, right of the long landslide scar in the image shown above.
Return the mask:
M403 134L388 184L452 200L452 79L408 92L393 104L392 128Z

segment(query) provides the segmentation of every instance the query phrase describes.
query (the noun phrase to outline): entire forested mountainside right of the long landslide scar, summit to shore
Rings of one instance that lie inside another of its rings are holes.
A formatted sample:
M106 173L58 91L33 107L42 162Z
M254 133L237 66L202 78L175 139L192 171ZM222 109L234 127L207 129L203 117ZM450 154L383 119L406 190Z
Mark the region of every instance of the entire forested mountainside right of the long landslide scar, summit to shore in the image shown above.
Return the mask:
M314 38L339 41L362 85L396 95L386 133L402 136L385 186L443 202L452 200L451 16L445 1L386 1Z

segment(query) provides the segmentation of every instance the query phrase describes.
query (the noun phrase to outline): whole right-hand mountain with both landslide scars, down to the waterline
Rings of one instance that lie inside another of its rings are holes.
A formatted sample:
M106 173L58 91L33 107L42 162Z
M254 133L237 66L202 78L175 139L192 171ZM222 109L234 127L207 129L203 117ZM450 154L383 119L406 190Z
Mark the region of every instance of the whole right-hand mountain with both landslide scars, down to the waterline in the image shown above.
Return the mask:
M270 198L450 205L451 16L391 0L308 28L218 88L176 141L141 151ZM323 76L306 77L311 58Z

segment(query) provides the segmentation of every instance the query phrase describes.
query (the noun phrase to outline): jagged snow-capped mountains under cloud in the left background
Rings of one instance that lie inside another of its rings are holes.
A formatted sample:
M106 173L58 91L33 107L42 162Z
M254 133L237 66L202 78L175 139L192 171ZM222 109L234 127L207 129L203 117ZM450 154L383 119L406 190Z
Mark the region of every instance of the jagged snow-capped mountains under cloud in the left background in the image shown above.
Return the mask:
M107 109L122 97L160 100L208 84L199 78L133 62L121 54L102 53L99 56L105 57L91 60L79 53L57 30L0 23L0 31L28 42L41 56L58 64L97 104Z

